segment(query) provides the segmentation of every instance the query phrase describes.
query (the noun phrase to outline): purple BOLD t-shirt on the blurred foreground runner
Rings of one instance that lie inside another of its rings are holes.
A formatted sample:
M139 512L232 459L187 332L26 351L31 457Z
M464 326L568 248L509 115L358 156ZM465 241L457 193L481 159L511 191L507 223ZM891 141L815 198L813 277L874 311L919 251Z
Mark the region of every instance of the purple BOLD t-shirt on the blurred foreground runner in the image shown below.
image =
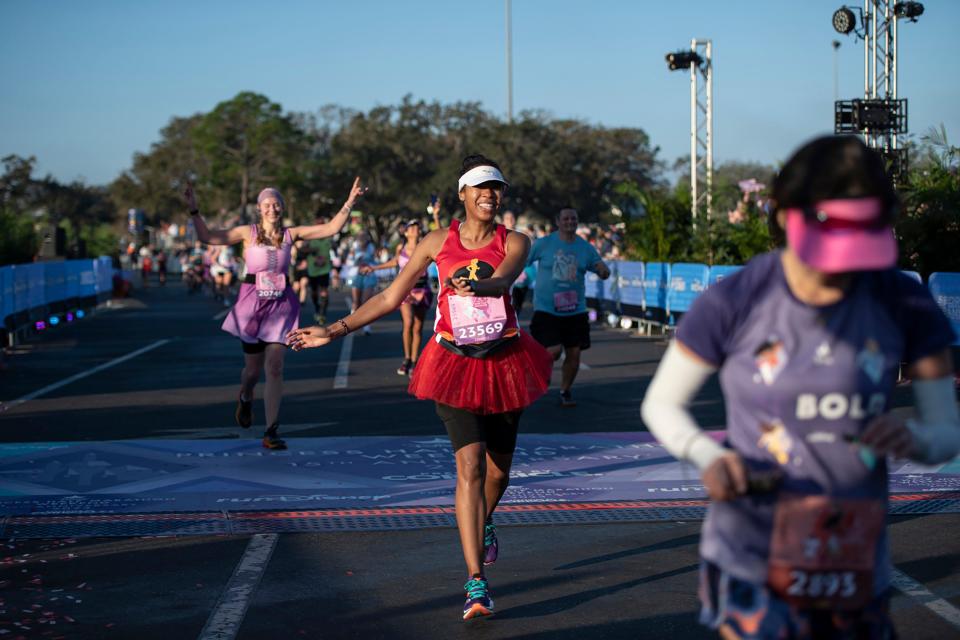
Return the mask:
M835 304L804 304L771 252L698 296L677 340L719 367L727 446L749 467L781 469L783 491L885 501L886 460L853 440L887 411L900 363L943 350L953 331L926 287L896 270L858 274ZM701 555L765 582L774 505L771 494L713 502ZM876 593L888 556L884 533Z

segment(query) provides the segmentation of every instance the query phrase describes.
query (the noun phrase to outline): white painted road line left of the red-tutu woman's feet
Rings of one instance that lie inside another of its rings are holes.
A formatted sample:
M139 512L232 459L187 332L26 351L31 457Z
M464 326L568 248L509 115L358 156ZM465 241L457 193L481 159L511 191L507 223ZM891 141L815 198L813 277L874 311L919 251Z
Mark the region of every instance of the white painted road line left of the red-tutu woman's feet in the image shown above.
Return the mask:
M250 538L247 550L220 594L198 640L232 640L237 637L260 578L277 546L277 534L258 533Z

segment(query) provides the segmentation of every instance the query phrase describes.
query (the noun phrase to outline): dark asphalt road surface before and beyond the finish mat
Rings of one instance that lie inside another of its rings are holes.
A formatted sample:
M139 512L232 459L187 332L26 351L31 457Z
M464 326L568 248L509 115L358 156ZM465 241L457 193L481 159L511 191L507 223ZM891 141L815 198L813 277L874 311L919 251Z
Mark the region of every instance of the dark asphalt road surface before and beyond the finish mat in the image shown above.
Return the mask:
M331 316L345 312L343 297ZM241 436L232 415L242 357L219 330L222 311L177 284L153 287L19 348L0 371L3 442ZM395 373L399 327L393 314L355 337L346 389L333 388L341 343L288 354L291 445L442 435L432 405L409 398ZM553 393L524 414L523 432L643 429L638 407L664 344L602 328L593 339L579 406L562 409ZM715 383L694 411L722 427ZM259 403L256 414L262 426ZM960 637L958 525L957 515L891 521L898 575L914 581L893 600L904 638ZM714 637L696 622L696 522L505 526L500 537L489 572L497 614L466 624L453 529L0 540L0 637Z

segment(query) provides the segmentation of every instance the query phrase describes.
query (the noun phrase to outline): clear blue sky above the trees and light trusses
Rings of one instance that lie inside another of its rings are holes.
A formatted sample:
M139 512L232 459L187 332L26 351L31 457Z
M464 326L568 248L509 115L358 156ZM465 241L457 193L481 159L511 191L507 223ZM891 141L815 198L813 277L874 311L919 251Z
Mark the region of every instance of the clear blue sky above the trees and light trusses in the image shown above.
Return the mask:
M843 42L840 98L862 97L863 45L830 24L840 4L514 0L514 111L640 127L672 162L689 149L689 76L663 56L711 38L715 161L776 162L832 131L832 40ZM900 96L911 133L943 123L956 143L960 2L924 5L901 23ZM503 0L3 0L0 155L104 184L170 118L245 90L292 111L409 93L505 116L504 42Z

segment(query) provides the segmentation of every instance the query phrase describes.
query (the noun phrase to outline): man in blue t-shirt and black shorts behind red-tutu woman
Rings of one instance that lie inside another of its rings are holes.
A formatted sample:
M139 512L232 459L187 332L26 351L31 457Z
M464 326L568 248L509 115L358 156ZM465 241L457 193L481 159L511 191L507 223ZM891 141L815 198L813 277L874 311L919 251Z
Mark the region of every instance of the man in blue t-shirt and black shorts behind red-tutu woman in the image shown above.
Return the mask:
M587 271L602 280L610 269L593 246L577 236L577 211L561 209L557 231L533 243L527 264L539 263L533 295L530 334L550 352L554 360L564 354L560 382L560 404L576 406L570 387L580 369L580 352L590 348L590 321L584 277Z

